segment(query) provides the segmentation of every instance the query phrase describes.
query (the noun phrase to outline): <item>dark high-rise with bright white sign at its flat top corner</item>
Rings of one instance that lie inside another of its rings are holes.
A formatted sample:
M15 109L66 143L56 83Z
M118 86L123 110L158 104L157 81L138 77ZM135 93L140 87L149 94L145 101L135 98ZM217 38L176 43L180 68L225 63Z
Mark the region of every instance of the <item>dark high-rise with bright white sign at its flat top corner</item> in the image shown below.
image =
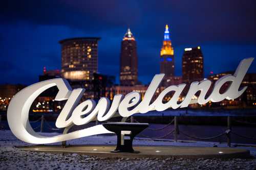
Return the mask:
M200 46L185 48L182 57L182 80L184 83L204 79L204 60Z

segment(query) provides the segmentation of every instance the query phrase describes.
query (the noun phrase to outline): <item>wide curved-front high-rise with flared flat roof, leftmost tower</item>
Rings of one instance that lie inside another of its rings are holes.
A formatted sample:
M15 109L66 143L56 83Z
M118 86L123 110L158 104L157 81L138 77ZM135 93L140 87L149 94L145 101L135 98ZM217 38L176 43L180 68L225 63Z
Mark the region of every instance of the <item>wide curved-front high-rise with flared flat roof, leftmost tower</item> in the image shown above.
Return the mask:
M71 81L91 81L98 70L97 37L70 38L61 44L61 75Z

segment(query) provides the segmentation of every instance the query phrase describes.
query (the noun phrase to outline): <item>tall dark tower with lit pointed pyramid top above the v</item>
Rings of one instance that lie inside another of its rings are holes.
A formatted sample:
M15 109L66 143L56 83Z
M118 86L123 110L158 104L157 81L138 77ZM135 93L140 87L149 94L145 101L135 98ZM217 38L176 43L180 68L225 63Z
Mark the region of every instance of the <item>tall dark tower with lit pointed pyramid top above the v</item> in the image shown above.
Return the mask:
M121 42L120 55L120 84L121 86L133 86L138 81L138 58L135 37L130 29L127 29Z

